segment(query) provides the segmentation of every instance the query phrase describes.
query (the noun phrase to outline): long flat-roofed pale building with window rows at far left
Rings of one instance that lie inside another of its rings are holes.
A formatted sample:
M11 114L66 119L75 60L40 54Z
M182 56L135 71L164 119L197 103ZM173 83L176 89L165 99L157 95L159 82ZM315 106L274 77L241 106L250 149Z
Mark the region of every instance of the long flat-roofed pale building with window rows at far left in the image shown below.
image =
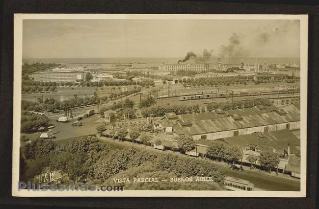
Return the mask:
M51 82L81 82L85 81L86 74L89 71L84 70L55 70L34 72L34 81L51 81Z

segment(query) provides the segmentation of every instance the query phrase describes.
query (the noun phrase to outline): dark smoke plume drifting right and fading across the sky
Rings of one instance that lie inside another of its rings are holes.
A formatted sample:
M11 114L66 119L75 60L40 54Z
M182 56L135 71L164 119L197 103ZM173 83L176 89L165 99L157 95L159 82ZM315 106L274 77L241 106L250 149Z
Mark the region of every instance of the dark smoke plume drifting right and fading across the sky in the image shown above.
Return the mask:
M292 20L277 21L276 24L268 24L259 28L252 28L247 32L234 32L228 38L227 43L218 47L217 53L213 55L213 50L204 49L202 54L195 54L190 51L180 62L191 59L196 63L210 62L213 56L218 58L235 57L270 57L277 54L277 48L296 47L300 37L300 22ZM299 37L298 37L299 36ZM284 55L286 55L285 52ZM282 55L283 56L283 55Z

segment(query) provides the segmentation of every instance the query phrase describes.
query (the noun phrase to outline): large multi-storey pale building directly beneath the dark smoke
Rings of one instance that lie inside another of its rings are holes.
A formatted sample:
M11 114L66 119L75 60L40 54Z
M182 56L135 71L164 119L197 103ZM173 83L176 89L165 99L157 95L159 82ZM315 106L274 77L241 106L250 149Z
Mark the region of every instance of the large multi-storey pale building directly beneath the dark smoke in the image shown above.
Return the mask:
M177 70L192 70L192 71L206 71L209 69L209 64L161 64L160 71L176 72ZM172 74L172 73L171 73Z

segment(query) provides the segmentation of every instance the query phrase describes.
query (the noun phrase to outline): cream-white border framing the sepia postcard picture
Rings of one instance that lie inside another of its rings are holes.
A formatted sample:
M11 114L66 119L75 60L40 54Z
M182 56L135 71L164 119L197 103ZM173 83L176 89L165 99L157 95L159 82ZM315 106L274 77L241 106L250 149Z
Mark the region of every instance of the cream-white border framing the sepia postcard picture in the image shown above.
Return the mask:
M14 14L14 93L12 195L21 197L306 197L307 70L300 70L300 191L27 191L18 190L22 81L22 23L25 19L224 19L300 20L300 69L308 69L308 15L193 15L193 14Z

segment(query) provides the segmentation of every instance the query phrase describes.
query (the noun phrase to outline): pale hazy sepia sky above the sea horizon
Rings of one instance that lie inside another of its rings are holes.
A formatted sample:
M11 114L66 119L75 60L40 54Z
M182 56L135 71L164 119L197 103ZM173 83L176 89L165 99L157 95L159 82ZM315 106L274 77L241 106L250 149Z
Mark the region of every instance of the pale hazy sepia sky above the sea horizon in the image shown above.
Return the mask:
M235 34L234 34L235 33ZM221 45L224 45L222 47ZM221 55L221 49L229 50ZM23 58L299 57L299 20L24 20Z

